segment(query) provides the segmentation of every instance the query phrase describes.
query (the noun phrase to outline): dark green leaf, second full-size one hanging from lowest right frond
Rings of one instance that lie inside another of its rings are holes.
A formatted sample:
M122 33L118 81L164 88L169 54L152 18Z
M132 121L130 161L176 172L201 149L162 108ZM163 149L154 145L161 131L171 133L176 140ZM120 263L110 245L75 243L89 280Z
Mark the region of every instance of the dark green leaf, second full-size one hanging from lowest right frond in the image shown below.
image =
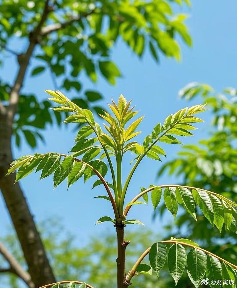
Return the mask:
M187 255L184 247L177 243L172 245L168 252L168 268L175 281L175 285L177 285L179 279L184 273L186 261Z

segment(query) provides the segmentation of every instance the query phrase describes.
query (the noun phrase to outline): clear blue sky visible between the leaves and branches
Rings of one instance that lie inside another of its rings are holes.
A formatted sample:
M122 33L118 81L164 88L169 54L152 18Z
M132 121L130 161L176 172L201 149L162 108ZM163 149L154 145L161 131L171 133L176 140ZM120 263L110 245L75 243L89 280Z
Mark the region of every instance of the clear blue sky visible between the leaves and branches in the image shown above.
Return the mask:
M190 103L187 104L177 97L178 90L187 83L191 81L204 82L210 84L216 91L220 91L226 86L236 86L236 10L237 2L234 0L227 2L193 1L191 9L185 7L180 9L181 12L187 12L190 15L186 24L193 39L191 48L181 43L181 62L160 55L160 64L157 65L148 51L140 60L120 41L112 53L112 60L123 74L123 77L116 81L116 85L107 84L102 77L99 77L96 84L91 83L86 77L82 77L80 81L85 88L101 91L104 95L101 105L104 106L110 102L111 97L117 101L121 93L127 99L132 98L133 104L140 110L138 116L145 115L140 125L143 134L137 137L138 142L142 142L143 138L150 134L156 123L164 121L166 116L178 109L190 105ZM37 65L36 62L33 64ZM8 79L12 79L14 65L12 62L12 65L2 68L0 70L1 75L4 74ZM29 70L23 89L26 92L34 91L42 100L47 97L43 88L54 89L53 83L47 74L30 78L30 72ZM66 96L70 97L67 94ZM195 99L191 104L199 103L201 100ZM199 129L194 131L194 137L183 139L184 143L195 143L199 138L207 135L207 131L210 130L210 113L206 112L201 117L205 119L205 123L198 124ZM76 133L70 127L63 126L58 129L56 125L48 126L44 133L46 145L39 144L32 151L26 144L23 144L20 150L14 148L15 158L34 152L67 153L73 145L75 135ZM163 145L162 147L166 151L168 160L171 160L180 150L180 146L177 145ZM126 163L127 158L124 159L124 178L131 169L128 162ZM143 160L129 186L127 202L139 193L139 187L148 187L149 184L171 184L179 180L164 175L157 181L156 172L159 167L160 162L149 158ZM33 173L20 182L30 209L38 223L47 217L61 217L60 223L64 225L66 231L76 235L76 245L84 245L90 235L97 232L108 230L113 232L114 227L111 223L95 225L101 216L113 218L108 201L93 199L94 196L104 193L102 187L91 190L93 181L88 180L84 185L81 179L73 184L69 191L66 190L66 183L60 184L53 191L52 176L41 181L39 181L39 176L39 173ZM139 219L152 228L154 232L158 232L167 221L172 221L172 217L167 214L163 223L159 223L158 219L153 223L151 204L149 207L146 205L135 206L130 210L129 218ZM6 234L6 227L10 225L2 196L0 196L0 211L1 237ZM131 226L135 225L130 225L127 228L135 228ZM142 230L142 227L136 228Z

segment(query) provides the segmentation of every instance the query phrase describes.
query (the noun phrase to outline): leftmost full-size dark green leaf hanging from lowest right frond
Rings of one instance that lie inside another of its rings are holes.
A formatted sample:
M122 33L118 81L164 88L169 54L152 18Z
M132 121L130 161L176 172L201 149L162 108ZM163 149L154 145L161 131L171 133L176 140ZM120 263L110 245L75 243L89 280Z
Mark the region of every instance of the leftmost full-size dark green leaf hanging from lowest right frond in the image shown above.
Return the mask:
M149 261L152 268L159 278L160 270L163 268L167 256L166 245L162 242L156 242L152 245L149 252Z

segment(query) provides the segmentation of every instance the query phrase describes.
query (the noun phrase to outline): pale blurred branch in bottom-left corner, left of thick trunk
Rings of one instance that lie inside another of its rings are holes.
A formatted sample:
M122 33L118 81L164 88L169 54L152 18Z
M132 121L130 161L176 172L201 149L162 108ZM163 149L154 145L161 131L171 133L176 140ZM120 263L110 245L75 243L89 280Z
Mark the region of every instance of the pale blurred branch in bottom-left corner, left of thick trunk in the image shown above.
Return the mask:
M35 284L31 281L30 274L25 271L14 256L6 249L2 242L0 242L0 253L10 264L9 268L2 268L0 272L12 272L19 276L30 288L34 288Z

